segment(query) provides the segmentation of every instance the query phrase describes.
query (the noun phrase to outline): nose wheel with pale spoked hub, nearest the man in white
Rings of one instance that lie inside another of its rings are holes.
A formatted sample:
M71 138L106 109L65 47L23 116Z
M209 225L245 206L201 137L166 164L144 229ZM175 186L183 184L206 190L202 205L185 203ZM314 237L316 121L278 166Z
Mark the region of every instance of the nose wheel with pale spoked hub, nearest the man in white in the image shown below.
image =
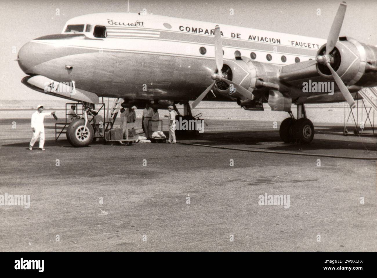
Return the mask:
M87 147L92 143L94 137L94 130L92 125L88 122L84 130L84 119L79 119L71 122L67 128L67 139L74 147Z

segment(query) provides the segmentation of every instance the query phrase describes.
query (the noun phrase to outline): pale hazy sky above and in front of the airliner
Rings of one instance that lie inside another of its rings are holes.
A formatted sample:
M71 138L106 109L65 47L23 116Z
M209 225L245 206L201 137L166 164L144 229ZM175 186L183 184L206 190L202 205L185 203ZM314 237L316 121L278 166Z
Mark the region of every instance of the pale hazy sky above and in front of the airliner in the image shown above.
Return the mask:
M157 15L239 25L309 37L326 38L339 0L213 0L149 1L131 0L130 11L147 9ZM348 0L340 35L363 43L377 44L377 1ZM229 9L234 15L229 15ZM55 10L60 9L60 15ZM321 9L321 15L317 15ZM41 1L2 0L0 9L0 102L2 99L56 99L21 84L26 76L18 67L18 50L26 42L43 35L57 34L72 17L96 12L126 12L127 1ZM12 53L12 49L16 53Z

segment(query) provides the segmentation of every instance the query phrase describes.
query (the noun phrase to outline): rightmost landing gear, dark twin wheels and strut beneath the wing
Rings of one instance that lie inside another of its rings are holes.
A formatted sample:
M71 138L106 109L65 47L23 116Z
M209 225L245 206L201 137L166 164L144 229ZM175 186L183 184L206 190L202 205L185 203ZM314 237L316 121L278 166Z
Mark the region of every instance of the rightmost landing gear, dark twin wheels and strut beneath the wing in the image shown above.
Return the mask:
M288 112L291 116L280 124L280 138L285 143L309 143L314 137L314 125L307 119L304 104L297 105L297 119L294 118L292 111Z

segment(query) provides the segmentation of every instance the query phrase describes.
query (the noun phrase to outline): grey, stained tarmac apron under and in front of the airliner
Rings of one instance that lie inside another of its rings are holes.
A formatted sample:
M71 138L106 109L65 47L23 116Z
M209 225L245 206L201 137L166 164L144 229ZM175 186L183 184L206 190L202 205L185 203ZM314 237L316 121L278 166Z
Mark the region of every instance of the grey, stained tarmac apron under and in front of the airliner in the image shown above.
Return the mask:
M206 122L178 141L248 151L74 148L65 134L55 143L50 119L46 151L29 151L30 119L1 120L0 195L31 202L0 206L0 251L377 251L375 136L314 124L313 142L284 144L271 121ZM259 205L265 193L289 195L289 208Z

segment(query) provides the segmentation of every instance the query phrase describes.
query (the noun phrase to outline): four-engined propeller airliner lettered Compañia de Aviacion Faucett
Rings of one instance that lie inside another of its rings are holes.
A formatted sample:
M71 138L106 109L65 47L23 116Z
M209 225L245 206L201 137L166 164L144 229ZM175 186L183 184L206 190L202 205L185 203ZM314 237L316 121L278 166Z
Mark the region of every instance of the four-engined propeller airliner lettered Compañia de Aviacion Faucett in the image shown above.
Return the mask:
M290 115L280 125L284 142L310 142L305 103L346 101L353 108L357 91L377 86L377 47L339 37L345 12L342 2L327 41L144 13L89 14L67 21L61 34L26 43L18 64L26 86L83 103L84 119L67 128L75 147L91 143L87 113L101 96L124 98L123 107L179 103L187 117L202 100L236 101L248 110L267 102ZM320 90L333 81L333 92ZM317 89L305 90L305 82Z

